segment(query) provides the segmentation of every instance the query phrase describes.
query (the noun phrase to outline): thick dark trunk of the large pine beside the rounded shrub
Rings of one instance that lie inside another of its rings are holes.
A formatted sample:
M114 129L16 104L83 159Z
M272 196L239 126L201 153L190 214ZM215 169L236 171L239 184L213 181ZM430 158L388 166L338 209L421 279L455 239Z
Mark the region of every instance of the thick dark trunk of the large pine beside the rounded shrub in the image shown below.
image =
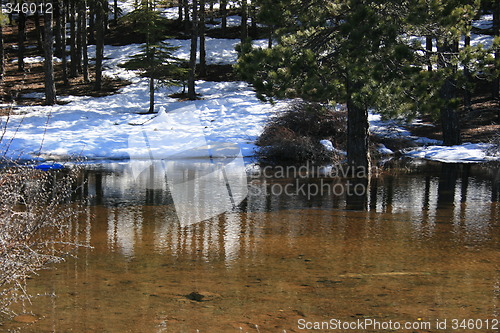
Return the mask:
M370 172L368 108L360 106L351 96L360 91L359 84L347 84L347 161L366 174Z

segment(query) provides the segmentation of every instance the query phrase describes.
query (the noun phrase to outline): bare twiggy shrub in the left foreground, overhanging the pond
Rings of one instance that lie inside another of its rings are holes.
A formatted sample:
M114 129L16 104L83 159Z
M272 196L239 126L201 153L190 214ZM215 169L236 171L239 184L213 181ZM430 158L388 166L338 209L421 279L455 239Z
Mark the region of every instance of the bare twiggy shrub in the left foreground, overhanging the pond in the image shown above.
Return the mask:
M77 209L70 203L78 170L0 169L0 310L29 301L26 279L75 248Z

